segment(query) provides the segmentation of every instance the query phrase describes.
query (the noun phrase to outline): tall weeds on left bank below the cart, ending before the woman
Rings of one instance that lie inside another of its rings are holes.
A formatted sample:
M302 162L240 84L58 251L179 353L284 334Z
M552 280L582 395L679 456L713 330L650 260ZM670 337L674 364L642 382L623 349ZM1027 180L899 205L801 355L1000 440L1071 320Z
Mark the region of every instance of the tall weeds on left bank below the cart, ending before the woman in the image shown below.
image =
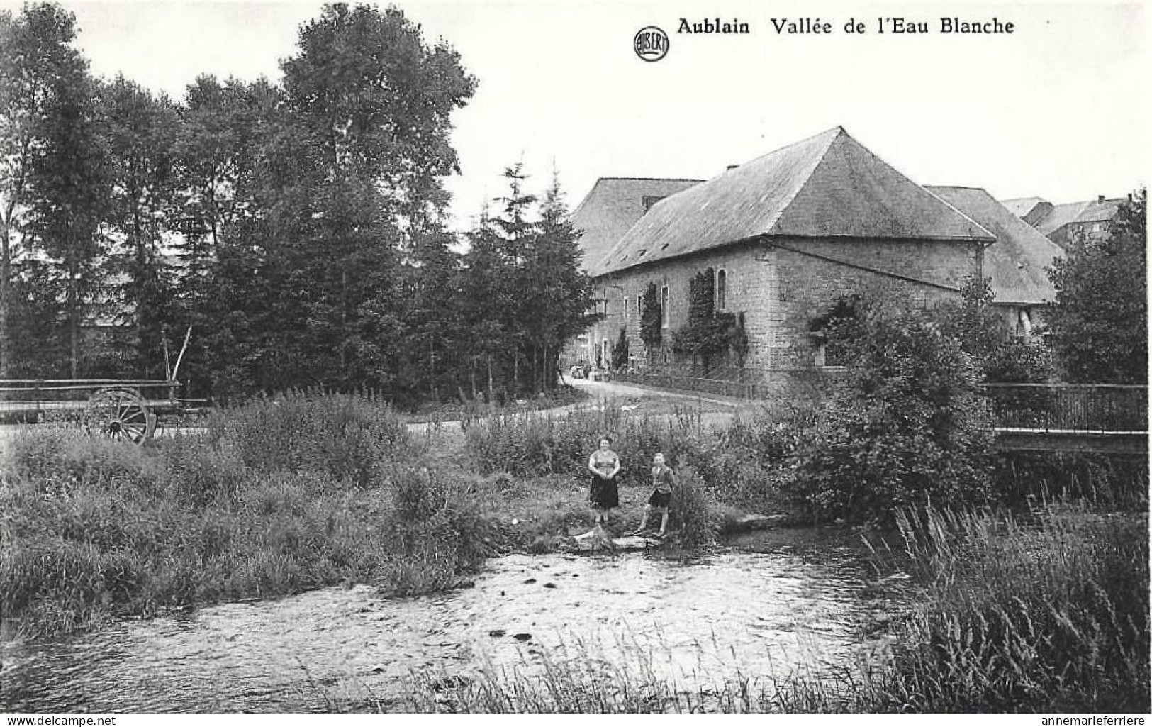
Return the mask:
M475 570L484 547L475 494L414 469L418 453L370 397L259 402L146 447L37 429L9 454L8 633L349 581L435 590Z

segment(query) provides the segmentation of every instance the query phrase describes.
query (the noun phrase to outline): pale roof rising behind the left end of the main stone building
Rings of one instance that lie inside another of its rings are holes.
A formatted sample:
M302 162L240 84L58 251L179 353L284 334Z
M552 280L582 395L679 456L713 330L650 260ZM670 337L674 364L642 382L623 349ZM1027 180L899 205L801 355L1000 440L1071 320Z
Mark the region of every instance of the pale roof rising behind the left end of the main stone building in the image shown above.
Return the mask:
M660 180L606 176L597 180L584 200L573 211L579 238L581 270L588 272L612 249L628 228L657 199L683 191L700 180Z

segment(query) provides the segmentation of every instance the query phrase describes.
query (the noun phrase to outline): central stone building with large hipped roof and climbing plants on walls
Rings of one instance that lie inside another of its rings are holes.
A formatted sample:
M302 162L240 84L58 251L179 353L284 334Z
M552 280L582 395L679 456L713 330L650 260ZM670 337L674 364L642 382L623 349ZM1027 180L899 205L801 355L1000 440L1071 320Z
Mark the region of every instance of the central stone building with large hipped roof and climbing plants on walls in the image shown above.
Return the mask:
M676 182L687 187L650 205L634 202L638 219L604 253L604 238L581 224L581 213L593 217L585 209L593 195L574 214L582 244L591 241L584 263L604 315L585 350L605 363L623 330L634 366L687 366L673 334L688 319L689 281L711 270L715 309L737 315L748 341L743 361L727 364L741 378L806 378L839 363L819 330L838 305L859 294L923 308L955 300L969 275L986 274L985 252L996 242L840 127L708 181ZM662 331L652 350L639 325L650 283Z

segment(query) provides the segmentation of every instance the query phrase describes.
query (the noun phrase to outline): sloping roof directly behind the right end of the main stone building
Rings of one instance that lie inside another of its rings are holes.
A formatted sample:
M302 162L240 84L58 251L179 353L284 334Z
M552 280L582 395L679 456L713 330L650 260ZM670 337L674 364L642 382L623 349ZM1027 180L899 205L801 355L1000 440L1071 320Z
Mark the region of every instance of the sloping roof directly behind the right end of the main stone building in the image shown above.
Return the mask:
M995 234L996 241L984 249L984 274L992 278L994 303L1038 304L1055 300L1055 288L1044 268L1060 257L1060 245L983 189L929 187L929 190Z

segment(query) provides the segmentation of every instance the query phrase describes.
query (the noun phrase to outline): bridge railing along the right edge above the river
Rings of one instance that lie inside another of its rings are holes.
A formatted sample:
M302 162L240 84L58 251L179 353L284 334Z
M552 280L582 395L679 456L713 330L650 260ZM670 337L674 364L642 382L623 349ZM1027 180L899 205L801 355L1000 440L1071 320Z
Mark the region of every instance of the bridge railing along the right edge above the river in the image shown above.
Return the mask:
M996 426L1070 432L1146 432L1147 386L987 384Z

